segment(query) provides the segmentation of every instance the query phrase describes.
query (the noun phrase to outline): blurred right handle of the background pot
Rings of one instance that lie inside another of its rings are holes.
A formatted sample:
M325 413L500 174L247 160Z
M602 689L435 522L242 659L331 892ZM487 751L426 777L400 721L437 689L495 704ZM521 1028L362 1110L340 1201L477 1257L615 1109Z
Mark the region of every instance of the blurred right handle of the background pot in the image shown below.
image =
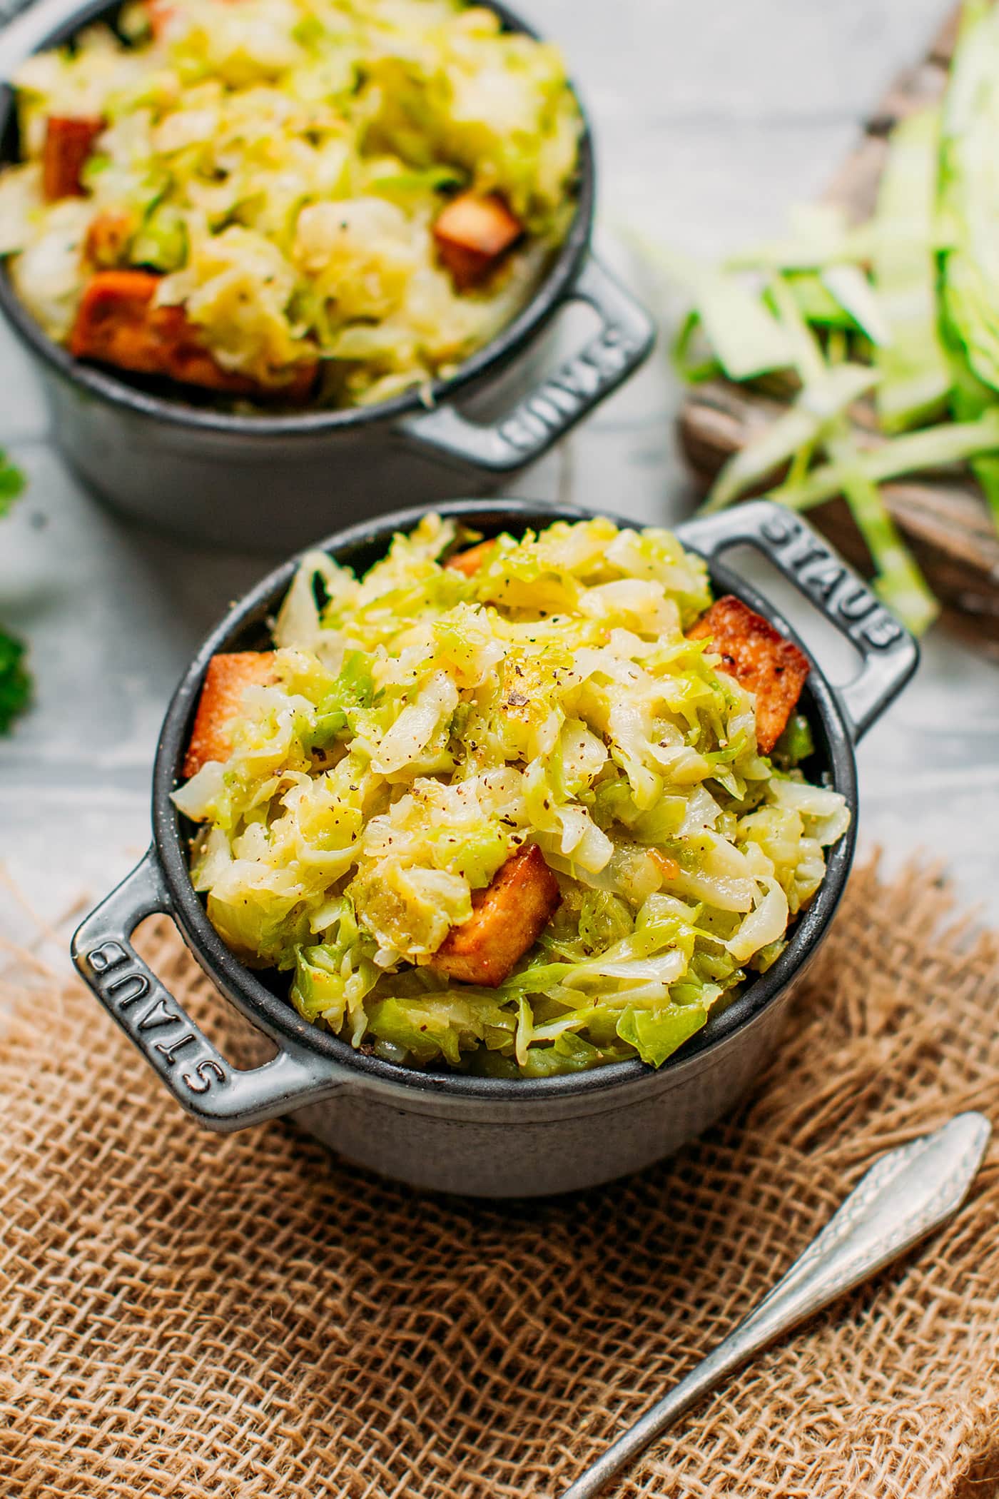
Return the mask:
M589 301L601 331L505 417L478 423L442 405L407 417L400 429L437 454L494 474L523 468L547 453L638 369L656 340L649 313L593 255L587 255L566 300Z

